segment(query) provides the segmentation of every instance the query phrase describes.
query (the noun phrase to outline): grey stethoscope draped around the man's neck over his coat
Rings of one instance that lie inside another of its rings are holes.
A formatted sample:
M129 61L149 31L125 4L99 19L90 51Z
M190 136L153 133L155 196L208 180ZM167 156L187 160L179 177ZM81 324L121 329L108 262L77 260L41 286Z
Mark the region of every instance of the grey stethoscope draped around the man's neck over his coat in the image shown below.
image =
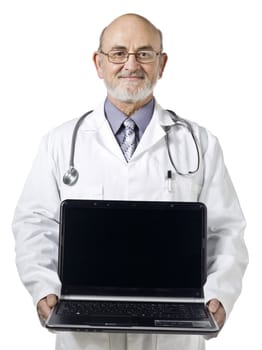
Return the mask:
M166 131L165 141L166 141L167 153L168 153L168 157L169 157L170 163L171 163L172 167L174 168L175 172L178 175L181 175L181 176L193 175L193 174L198 172L199 166L200 166L200 152L199 152L199 147L198 147L198 144L197 144L196 137L194 135L193 128L192 128L191 124L187 120L178 117L171 110L167 110L167 111L170 113L171 119L175 123L174 125L164 126L163 127L164 130ZM73 134L72 134L72 141L71 141L69 169L66 171L66 173L63 176L63 182L64 182L65 185L73 186L77 182L77 180L79 178L79 172L75 168L75 164L74 164L76 138L77 138L77 133L78 133L78 130L79 130L82 122L92 112L93 111L89 111L89 112L85 113L84 115L82 115L82 117L78 119L78 121L76 122L76 125L74 127ZM169 142L169 131L174 126L185 127L189 131L189 133L191 134L191 137L192 137L192 139L194 141L194 145L195 145L195 148L196 148L196 154L197 154L197 166L196 166L196 168L194 170L188 170L187 172L179 171L178 168L175 165L175 162L173 161L173 158L172 158L172 155L171 155L171 151L170 151L170 147L169 147L169 144L170 144L170 142ZM167 179L168 179L169 183L171 184L171 180L172 180L172 172L171 172L171 170L168 170L168 172L167 172Z

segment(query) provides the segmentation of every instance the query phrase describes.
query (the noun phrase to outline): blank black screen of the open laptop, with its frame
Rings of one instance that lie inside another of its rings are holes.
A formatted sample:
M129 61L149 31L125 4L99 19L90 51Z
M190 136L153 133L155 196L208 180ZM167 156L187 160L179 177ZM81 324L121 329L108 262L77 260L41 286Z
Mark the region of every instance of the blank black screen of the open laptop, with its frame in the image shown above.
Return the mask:
M60 224L64 292L202 288L205 222L201 203L67 200Z

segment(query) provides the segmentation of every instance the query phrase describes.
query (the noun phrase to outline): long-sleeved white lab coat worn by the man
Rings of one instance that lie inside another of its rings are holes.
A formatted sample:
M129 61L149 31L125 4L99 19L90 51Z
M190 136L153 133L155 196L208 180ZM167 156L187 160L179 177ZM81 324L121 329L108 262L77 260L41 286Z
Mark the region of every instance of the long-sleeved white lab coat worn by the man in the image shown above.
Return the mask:
M13 230L17 267L35 304L49 293L59 295L57 248L59 205L66 198L201 201L208 208L208 278L206 300L219 299L229 315L241 291L248 256L243 241L245 220L224 165L217 139L192 123L200 148L196 174L179 176L170 164L163 125L172 125L157 103L129 163L104 116L101 104L81 125L76 143L78 182L70 187L62 178L68 169L71 135L76 120L43 138L33 168L18 202ZM173 127L170 150L178 170L197 165L196 149L188 131ZM172 170L172 191L167 171ZM202 336L62 333L56 349L172 350L204 349Z

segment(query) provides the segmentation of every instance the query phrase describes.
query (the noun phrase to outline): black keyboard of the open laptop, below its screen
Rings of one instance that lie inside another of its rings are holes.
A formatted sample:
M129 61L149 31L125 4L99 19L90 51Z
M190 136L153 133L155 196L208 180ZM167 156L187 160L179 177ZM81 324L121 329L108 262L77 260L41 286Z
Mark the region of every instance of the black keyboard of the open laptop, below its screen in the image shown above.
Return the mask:
M62 301L57 313L64 316L107 315L176 320L203 320L208 318L203 303Z

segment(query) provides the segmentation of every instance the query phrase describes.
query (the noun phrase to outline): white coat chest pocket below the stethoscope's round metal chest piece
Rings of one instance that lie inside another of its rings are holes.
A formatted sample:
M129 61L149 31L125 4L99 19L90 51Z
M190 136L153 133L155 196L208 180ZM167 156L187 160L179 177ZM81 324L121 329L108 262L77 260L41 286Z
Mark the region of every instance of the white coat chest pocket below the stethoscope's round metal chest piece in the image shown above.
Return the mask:
M103 185L67 186L61 189L61 200L65 199L104 199Z

